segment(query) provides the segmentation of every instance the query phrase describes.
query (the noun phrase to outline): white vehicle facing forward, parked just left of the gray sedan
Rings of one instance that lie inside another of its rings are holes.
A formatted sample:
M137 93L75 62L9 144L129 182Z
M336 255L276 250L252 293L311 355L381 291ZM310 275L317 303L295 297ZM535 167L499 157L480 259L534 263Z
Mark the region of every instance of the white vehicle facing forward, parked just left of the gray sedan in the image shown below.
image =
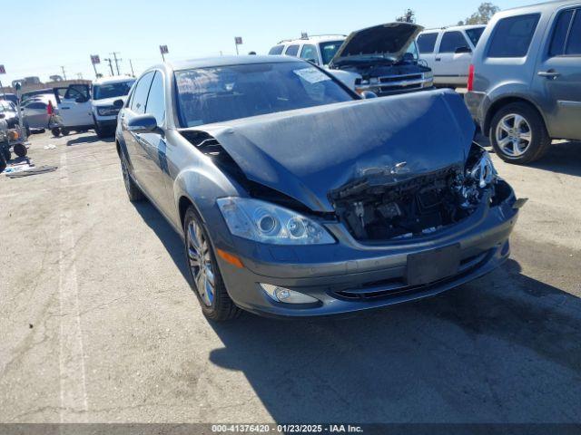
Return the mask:
M106 77L93 83L94 131L99 138L114 136L120 106L113 102L127 100L135 79L128 76ZM123 104L121 104L123 106Z

